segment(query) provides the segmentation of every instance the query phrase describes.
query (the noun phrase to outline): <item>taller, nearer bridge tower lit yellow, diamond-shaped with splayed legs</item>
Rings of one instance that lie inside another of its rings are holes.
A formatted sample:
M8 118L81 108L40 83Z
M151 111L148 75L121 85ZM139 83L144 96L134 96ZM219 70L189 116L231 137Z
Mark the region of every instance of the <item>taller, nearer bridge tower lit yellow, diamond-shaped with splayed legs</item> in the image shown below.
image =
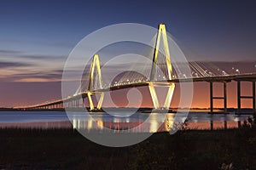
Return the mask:
M166 35L166 26L163 24L160 24L158 34L156 37L156 42L155 42L155 48L154 48L154 57L153 57L153 64L152 64L152 69L151 69L151 74L150 74L150 82L148 84L148 88L151 94L151 99L153 101L154 109L160 109L160 103L157 98L157 95L155 93L155 87L168 87L168 93L166 95L166 100L163 106L163 109L169 109L171 100L172 100L172 95L173 91L175 88L175 84L173 82L154 82L154 77L156 74L156 64L157 64L157 57L159 54L159 48L160 48L160 39L163 39L164 43L164 50L165 50L165 58L166 58L166 69L167 69L167 80L172 80L172 64L171 64L171 59L170 59L170 52L169 52L169 46L168 46L168 39Z

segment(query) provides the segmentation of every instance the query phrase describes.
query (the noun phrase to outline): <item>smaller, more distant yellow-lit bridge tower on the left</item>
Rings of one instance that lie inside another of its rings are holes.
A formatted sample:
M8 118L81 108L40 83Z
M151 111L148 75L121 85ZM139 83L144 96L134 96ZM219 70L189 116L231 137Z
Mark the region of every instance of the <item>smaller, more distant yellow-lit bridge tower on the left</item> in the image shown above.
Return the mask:
M100 65L100 59L99 56L97 54L95 54L93 56L93 60L92 63L90 65L90 79L89 79L89 86L88 86L88 90L87 90L87 97L89 100L89 105L90 105L90 111L96 111L96 110L101 110L102 109L102 102L104 99L104 93L103 92L96 92L95 89L92 89L93 86L93 82L95 80L95 71L97 72L97 80L99 81L99 85L100 85L100 89L102 89L102 71L101 71L101 65ZM100 94L100 99L98 101L98 104L96 105L96 108L93 104L93 100L91 98L91 96L96 95L96 94Z

